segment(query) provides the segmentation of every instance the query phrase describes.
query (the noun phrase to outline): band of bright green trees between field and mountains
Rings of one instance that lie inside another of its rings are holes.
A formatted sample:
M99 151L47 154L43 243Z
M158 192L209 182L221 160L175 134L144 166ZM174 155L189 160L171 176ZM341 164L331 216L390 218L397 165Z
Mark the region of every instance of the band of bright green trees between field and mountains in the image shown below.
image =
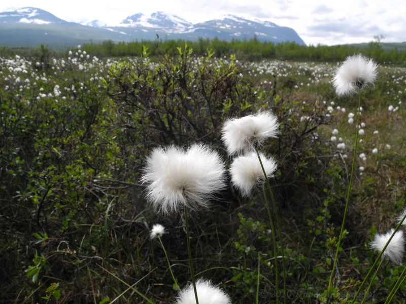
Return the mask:
M235 54L237 58L247 60L261 59L296 59L296 60L320 60L340 61L354 53L362 53L374 58L379 63L405 63L406 52L397 49L384 50L379 43L371 42L366 47L351 45L338 46L306 46L294 42L274 44L260 42L258 39L223 41L215 39L198 39L197 41L166 40L166 41L134 41L118 42L104 41L103 43L85 44L82 50L99 57L110 56L139 56L143 46L148 48L152 56L162 54L176 55L178 48L187 44L196 55L204 55L212 52L216 57Z

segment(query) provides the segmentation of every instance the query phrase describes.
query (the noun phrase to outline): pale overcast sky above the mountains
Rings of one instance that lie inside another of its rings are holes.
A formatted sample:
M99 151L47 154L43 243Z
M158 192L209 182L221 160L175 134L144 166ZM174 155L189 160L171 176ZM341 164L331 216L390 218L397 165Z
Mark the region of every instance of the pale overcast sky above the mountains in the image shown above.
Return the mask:
M308 45L369 42L374 35L383 35L383 42L406 41L405 0L6 0L0 3L0 12L28 6L66 21L98 19L108 25L117 25L136 13L156 11L192 23L233 14L291 27Z

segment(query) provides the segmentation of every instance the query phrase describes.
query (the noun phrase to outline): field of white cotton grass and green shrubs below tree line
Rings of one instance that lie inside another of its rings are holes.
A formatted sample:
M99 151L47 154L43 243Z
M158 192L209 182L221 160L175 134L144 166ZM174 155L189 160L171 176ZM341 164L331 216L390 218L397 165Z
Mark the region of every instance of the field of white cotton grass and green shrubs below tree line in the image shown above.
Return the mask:
M406 68L0 57L5 303L402 303Z

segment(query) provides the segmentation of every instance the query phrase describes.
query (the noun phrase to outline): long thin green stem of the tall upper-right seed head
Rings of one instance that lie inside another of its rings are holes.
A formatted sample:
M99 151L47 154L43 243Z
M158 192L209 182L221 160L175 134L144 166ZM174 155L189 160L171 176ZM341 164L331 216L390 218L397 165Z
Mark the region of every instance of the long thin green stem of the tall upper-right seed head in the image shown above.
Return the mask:
M350 201L350 194L351 194L351 185L352 185L352 179L354 176L354 167L355 167L355 160L357 159L357 147L358 147L358 132L359 132L359 108L361 106L361 97L358 95L358 108L357 108L357 132L355 133L355 147L354 147L354 155L352 158L352 166L351 166L351 175L350 175L350 183L348 185L348 191L347 191L347 199L346 199L346 206L344 208L344 215L343 215L343 221L341 223L341 230L340 230L340 236L339 236L339 241L337 242L337 248L335 250L335 256L334 256L334 262L333 262L333 267L331 269L331 274L330 274L330 279L328 281L328 288L327 288L327 299L331 293L331 288L333 284L333 278L334 278L334 271L335 271L335 265L337 263L337 259L339 257L339 251L340 251L340 245L341 241L343 239L344 235L344 224L346 222L346 217L347 217L347 209L348 209L348 202Z

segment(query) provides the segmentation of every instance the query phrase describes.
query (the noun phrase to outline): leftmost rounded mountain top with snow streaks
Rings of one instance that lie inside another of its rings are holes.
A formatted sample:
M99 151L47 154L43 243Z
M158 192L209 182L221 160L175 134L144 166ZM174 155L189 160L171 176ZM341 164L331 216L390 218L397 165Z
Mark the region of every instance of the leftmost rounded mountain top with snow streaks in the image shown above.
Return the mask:
M37 8L22 8L0 13L0 23L57 24L68 23L47 11Z

